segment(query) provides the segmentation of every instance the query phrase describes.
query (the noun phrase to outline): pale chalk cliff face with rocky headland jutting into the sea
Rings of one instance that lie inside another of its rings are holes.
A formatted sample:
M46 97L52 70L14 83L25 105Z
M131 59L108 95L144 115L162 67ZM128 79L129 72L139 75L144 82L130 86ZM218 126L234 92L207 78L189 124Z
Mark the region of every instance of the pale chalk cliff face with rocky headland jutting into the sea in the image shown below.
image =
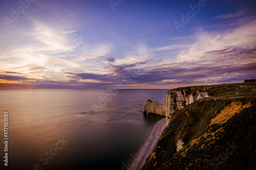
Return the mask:
M164 105L148 100L143 106L143 112L165 115L166 124L168 124L172 114L176 110L180 110L184 106L189 105L197 100L208 98L208 88L209 86L192 86L181 87L167 91L165 94Z

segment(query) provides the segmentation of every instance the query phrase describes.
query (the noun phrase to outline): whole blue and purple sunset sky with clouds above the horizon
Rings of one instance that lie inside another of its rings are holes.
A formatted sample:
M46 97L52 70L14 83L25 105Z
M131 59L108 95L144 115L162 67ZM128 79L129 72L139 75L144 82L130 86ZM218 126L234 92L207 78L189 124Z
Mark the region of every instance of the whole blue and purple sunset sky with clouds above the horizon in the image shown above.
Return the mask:
M0 88L173 89L256 78L256 1L0 0Z

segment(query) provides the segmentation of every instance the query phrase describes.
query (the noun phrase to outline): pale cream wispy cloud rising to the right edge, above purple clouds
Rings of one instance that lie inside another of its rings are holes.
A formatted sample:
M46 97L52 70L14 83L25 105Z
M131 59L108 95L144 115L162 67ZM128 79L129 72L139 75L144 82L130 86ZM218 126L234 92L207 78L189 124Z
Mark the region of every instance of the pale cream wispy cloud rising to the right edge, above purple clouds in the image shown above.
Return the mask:
M225 46L239 46L251 48L256 42L256 20L239 28L220 32L199 32L194 35L195 42L190 44L188 49L184 49L178 58L180 61L199 60L205 52L218 51Z

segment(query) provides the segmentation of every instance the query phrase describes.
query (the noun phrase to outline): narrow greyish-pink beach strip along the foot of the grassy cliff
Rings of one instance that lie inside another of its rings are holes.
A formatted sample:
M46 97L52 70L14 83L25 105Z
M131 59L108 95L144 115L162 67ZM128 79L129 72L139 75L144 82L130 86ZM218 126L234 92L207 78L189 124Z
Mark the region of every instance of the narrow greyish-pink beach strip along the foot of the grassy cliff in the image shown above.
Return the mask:
M150 135L148 135L146 141L143 144L143 147L140 149L139 154L134 159L129 170L139 170L144 165L146 158L152 153L157 140L166 127L165 120L166 118L159 120L152 128Z

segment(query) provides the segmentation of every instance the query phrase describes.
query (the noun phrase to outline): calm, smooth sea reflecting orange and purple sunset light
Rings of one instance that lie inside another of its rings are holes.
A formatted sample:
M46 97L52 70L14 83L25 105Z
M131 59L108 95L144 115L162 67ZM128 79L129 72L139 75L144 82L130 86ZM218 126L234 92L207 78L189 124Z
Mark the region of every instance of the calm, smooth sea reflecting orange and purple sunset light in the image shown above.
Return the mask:
M142 113L164 104L166 89L2 89L1 169L125 169L163 117ZM8 168L4 112L8 112Z

